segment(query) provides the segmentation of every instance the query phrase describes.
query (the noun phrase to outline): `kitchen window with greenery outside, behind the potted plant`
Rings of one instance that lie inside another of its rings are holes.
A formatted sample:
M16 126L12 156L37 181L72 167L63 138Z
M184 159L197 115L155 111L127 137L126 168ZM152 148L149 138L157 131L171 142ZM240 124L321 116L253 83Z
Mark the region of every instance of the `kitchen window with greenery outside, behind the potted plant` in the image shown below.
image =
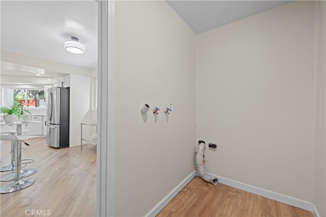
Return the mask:
M13 105L14 101L24 107L45 107L44 90L7 89L7 106Z

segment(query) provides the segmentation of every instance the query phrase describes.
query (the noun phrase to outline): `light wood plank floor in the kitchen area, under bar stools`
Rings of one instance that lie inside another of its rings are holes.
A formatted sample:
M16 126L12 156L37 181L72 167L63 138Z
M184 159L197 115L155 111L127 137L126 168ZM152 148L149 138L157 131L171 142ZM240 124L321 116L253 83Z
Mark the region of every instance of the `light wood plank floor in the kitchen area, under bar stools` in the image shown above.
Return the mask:
M20 191L1 194L1 216L26 216L27 209L50 210L50 216L96 215L96 146L83 145L55 149L46 145L45 138L25 141L30 146L22 152L22 159L35 162L26 169L37 172L25 179L35 183ZM10 143L4 143L1 166L10 164ZM23 168L23 169L24 169ZM1 175L7 172L1 172ZM1 182L1 185L9 182ZM30 211L27 214L30 214Z

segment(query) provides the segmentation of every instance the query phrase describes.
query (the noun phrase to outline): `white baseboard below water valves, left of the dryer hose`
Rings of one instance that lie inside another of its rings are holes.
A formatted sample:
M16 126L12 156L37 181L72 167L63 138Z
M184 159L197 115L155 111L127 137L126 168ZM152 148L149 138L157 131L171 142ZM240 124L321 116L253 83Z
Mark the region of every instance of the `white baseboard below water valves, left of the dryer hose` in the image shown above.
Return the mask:
M196 171L192 172L187 178L185 178L177 187L175 187L164 199L162 199L150 212L145 216L155 216L160 212L181 190L186 186L194 177Z

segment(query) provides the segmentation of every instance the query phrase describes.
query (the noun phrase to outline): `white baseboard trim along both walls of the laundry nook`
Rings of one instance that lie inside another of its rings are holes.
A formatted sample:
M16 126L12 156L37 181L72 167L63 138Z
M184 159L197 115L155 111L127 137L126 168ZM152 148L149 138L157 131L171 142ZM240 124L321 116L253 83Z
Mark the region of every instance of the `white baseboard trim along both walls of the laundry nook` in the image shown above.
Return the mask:
M213 175L213 174L210 174ZM164 199L162 199L146 216L157 215L181 190L186 186L194 177L196 176L196 171L192 172L187 178L185 178L177 187L175 187ZM213 175L215 176L215 175ZM244 184L238 181L227 179L221 176L215 176L219 179L219 183L225 184L231 187L241 189L242 191L250 192L255 195L259 195L265 198L276 200L291 206L302 208L311 211L315 217L319 217L318 211L314 204L303 201L300 199L292 198L279 193L271 192L259 187Z

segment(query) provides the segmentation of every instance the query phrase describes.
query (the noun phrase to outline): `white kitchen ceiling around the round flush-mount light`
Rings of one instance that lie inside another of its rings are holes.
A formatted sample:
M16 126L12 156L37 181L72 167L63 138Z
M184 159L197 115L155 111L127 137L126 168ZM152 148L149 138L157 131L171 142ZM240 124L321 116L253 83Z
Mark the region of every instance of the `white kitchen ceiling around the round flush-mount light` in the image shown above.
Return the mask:
M1 1L1 48L70 65L97 65L97 3L90 1ZM71 37L86 49L65 50Z

